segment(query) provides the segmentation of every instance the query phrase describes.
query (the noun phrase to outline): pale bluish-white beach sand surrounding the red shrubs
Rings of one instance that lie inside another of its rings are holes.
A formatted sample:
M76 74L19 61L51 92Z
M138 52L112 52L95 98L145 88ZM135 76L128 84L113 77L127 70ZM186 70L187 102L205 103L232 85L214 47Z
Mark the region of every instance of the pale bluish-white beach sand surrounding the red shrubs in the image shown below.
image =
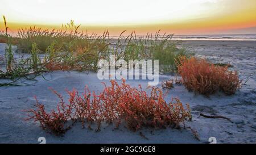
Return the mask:
M187 48L193 48L197 56L209 58L213 62L230 62L233 69L240 70L240 78L250 76L246 85L235 95L225 96L218 93L205 98L188 92L184 86L175 86L168 92L166 100L179 97L181 102L189 103L192 107L192 122L186 122L199 132L200 141L196 140L188 129L143 129L141 132L148 140L139 136L139 132L131 132L121 125L114 129L113 125L103 124L100 132L81 129L76 124L63 137L56 137L43 131L38 123L24 121L26 113L22 110L34 108L37 96L47 110L56 107L57 97L48 90L52 87L64 95L65 89L75 87L80 92L88 85L91 91L99 92L103 85L97 79L96 73L52 72L44 74L48 79L37 77L34 86L0 87L0 143L38 143L38 137L46 137L47 143L208 143L209 137L216 137L217 143L256 143L256 44L240 42L218 43L218 41L186 41ZM4 45L0 44L0 55L4 53ZM1 65L1 63L0 63ZM160 76L159 81L171 76ZM109 83L108 81L104 81ZM141 84L146 88L148 81L127 81L132 86ZM160 83L159 83L160 86ZM233 120L209 119L198 117L200 113L207 115L222 115Z

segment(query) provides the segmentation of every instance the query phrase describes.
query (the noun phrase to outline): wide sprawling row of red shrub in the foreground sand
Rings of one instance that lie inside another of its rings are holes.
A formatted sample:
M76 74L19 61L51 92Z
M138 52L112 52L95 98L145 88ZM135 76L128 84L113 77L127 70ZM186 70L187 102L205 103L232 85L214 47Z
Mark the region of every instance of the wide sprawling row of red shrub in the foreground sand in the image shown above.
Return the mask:
M61 95L57 111L47 114L44 106L37 102L37 110L28 110L32 113L29 119L39 121L43 129L50 129L53 133L64 133L67 129L64 124L68 119L80 120L84 127L84 122L90 124L96 122L97 130L100 129L101 122L115 123L118 125L125 122L127 127L137 131L142 127L165 128L168 126L179 127L186 119L191 119L190 109L183 107L179 99L175 98L167 103L164 100L161 90L151 87L148 95L139 89L130 87L123 80L121 85L116 81L110 81L111 86L106 86L99 94L91 93L88 87L82 95L77 90L67 91L69 94L69 104L63 102Z

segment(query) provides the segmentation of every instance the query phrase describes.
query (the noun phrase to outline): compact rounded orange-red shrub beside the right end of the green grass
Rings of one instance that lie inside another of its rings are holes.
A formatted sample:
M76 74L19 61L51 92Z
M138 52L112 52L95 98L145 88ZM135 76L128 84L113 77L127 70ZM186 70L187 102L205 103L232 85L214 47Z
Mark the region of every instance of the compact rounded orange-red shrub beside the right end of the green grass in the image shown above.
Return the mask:
M229 71L227 66L214 66L195 57L179 57L178 61L178 72L189 91L209 96L222 90L226 95L232 95L241 86L238 73Z

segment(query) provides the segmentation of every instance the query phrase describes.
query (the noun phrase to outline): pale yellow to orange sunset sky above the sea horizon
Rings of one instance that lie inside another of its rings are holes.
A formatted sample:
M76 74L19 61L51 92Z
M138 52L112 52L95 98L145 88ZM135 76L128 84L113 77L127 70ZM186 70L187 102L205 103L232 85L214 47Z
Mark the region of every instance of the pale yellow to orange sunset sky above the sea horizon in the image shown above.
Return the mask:
M72 19L80 30L110 35L256 33L256 0L0 0L0 15L11 31L61 28Z

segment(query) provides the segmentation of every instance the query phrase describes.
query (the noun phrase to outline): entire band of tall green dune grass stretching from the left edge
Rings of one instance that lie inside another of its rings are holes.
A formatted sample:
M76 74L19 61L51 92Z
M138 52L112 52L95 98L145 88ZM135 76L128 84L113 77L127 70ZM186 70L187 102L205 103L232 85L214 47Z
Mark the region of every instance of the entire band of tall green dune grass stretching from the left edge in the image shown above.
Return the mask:
M19 79L28 78L31 74L37 76L42 72L52 70L94 70L97 63L110 55L115 59L129 60L159 60L160 72L176 72L175 60L179 56L189 57L184 48L177 48L172 34L160 31L146 36L137 37L135 31L124 36L123 31L117 40L109 37L109 32L102 35L79 32L71 20L60 30L43 30L42 28L20 28L18 35L8 34L5 16L3 16L6 30L0 33L3 43L7 44L5 52L6 71L0 69L0 78ZM16 45L19 52L29 53L30 57L14 59L12 45ZM44 54L44 57L39 55ZM2 60L1 60L2 61Z

